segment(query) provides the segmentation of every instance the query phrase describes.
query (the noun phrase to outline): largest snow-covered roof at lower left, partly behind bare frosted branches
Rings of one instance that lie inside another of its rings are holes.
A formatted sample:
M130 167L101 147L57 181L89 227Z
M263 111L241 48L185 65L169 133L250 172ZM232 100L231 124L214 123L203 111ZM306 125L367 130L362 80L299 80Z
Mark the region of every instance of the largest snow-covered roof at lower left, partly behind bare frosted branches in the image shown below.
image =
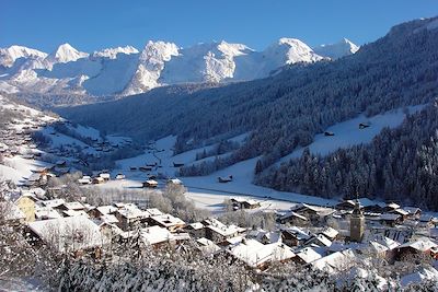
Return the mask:
M89 249L110 241L93 221L83 215L35 221L28 223L28 227L59 252Z

